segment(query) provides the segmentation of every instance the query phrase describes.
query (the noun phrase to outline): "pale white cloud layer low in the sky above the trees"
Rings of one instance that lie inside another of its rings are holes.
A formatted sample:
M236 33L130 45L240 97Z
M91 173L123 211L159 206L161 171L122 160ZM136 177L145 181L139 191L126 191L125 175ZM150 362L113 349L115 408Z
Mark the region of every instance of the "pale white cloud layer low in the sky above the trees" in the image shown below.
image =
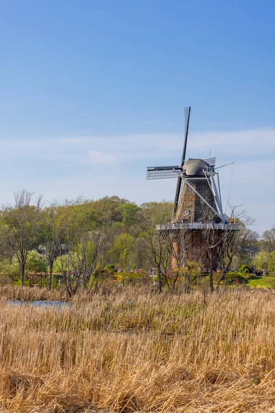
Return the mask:
M115 194L137 204L173 200L175 182L146 181L146 165L177 165L183 141L183 134L1 140L1 166L9 177L8 183L0 182L1 202L10 201L13 191L25 187L42 191L48 200L75 198L79 194L87 198ZM235 161L230 203L243 204L256 218L259 231L274 224L274 142L275 129L190 133L188 138L190 158L208 158L211 148L217 164ZM111 175L107 165L111 165ZM224 206L231 168L220 169Z

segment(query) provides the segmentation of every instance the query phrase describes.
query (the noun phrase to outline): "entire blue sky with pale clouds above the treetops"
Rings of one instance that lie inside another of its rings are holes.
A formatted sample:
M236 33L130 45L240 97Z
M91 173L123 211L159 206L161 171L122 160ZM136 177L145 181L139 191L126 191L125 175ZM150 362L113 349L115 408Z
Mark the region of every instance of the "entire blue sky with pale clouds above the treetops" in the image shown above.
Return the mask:
M274 1L0 1L1 203L173 199L188 156L234 160L230 202L275 224ZM219 162L220 161L220 162ZM231 167L223 169L228 199Z

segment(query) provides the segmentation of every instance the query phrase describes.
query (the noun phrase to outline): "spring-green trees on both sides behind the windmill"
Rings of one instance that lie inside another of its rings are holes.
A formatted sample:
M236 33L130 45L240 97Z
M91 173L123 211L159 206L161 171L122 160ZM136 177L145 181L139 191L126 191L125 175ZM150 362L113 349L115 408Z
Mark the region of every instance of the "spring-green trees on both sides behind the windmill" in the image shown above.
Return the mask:
M172 208L166 201L137 206L117 196L46 205L28 191L15 193L14 204L1 211L1 283L24 285L30 275L43 274L51 289L65 277L73 295L91 283L99 288L116 272L128 278L158 275L169 288L170 255L155 225L170 222ZM242 264L275 272L275 227L260 237L243 226L231 266ZM196 265L191 266L198 271Z

